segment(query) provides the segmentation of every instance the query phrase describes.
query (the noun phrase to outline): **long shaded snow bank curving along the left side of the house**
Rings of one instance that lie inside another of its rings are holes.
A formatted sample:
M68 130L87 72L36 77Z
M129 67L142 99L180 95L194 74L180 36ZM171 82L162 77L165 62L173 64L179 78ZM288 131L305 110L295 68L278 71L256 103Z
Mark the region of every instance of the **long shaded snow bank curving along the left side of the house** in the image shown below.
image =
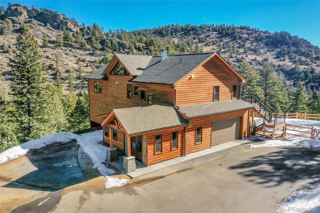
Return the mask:
M105 188L120 186L128 182L128 179L118 179L108 177L107 175L114 173L113 169L107 168L103 162L105 161L106 146L102 145L102 130L96 130L80 135L71 132L57 132L46 135L39 139L29 140L20 145L14 146L0 153L0 164L10 159L25 155L29 149L41 148L54 142L68 142L76 139L80 148L91 158L93 167L105 176Z

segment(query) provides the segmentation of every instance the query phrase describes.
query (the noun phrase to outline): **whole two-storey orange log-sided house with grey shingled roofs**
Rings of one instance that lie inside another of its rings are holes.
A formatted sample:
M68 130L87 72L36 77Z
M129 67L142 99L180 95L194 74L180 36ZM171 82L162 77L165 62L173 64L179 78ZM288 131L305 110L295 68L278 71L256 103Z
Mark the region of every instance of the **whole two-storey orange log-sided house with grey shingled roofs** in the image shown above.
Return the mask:
M217 53L114 54L85 78L91 126L145 165L248 136L245 80Z

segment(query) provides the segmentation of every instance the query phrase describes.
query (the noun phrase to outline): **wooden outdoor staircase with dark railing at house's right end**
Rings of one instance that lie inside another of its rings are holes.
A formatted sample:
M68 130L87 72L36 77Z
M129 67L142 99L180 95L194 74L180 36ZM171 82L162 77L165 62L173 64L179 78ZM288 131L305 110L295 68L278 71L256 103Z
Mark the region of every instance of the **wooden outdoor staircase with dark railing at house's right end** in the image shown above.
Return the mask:
M257 94L244 95L240 98L254 106L250 114L250 133L271 137L272 139L283 135L285 113L278 113Z

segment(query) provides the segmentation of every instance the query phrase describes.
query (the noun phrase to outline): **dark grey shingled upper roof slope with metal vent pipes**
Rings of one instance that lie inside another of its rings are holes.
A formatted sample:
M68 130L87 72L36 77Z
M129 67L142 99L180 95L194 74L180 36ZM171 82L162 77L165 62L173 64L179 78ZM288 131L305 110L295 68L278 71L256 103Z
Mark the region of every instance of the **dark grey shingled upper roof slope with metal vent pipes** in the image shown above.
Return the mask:
M161 60L161 56L153 56L142 74L132 81L174 84L212 54L214 53L167 55L164 60Z

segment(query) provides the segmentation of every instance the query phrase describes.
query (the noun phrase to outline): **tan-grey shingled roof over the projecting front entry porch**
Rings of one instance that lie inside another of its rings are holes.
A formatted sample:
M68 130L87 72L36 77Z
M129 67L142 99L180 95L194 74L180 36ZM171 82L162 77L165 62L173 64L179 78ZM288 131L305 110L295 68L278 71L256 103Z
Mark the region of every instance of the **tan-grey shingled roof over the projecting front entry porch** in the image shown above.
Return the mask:
M118 108L113 112L129 135L188 123L171 104Z

